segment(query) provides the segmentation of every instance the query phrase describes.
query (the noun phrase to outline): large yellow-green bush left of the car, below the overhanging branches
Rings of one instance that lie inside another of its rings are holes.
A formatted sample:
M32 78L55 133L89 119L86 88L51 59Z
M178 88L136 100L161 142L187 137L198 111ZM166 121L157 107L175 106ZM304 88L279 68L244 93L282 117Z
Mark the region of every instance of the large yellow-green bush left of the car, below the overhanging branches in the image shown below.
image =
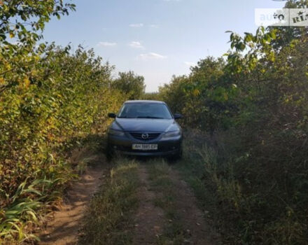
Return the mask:
M27 239L22 229L36 221L36 209L57 197L70 179L66 152L88 134L104 133L107 113L125 100L120 91L110 90L113 68L102 64L92 50L80 47L72 54L69 48L42 45L37 52L40 55L29 57L34 60L29 72L2 77L5 84L16 83L1 92L3 239ZM0 73L8 65L1 64Z

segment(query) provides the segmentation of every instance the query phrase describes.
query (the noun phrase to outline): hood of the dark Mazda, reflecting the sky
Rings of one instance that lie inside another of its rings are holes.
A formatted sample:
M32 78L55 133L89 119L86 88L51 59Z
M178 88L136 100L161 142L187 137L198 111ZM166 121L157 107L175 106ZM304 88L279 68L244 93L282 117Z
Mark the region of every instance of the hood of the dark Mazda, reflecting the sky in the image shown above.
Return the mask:
M174 119L116 118L111 128L125 132L167 132L179 130Z

